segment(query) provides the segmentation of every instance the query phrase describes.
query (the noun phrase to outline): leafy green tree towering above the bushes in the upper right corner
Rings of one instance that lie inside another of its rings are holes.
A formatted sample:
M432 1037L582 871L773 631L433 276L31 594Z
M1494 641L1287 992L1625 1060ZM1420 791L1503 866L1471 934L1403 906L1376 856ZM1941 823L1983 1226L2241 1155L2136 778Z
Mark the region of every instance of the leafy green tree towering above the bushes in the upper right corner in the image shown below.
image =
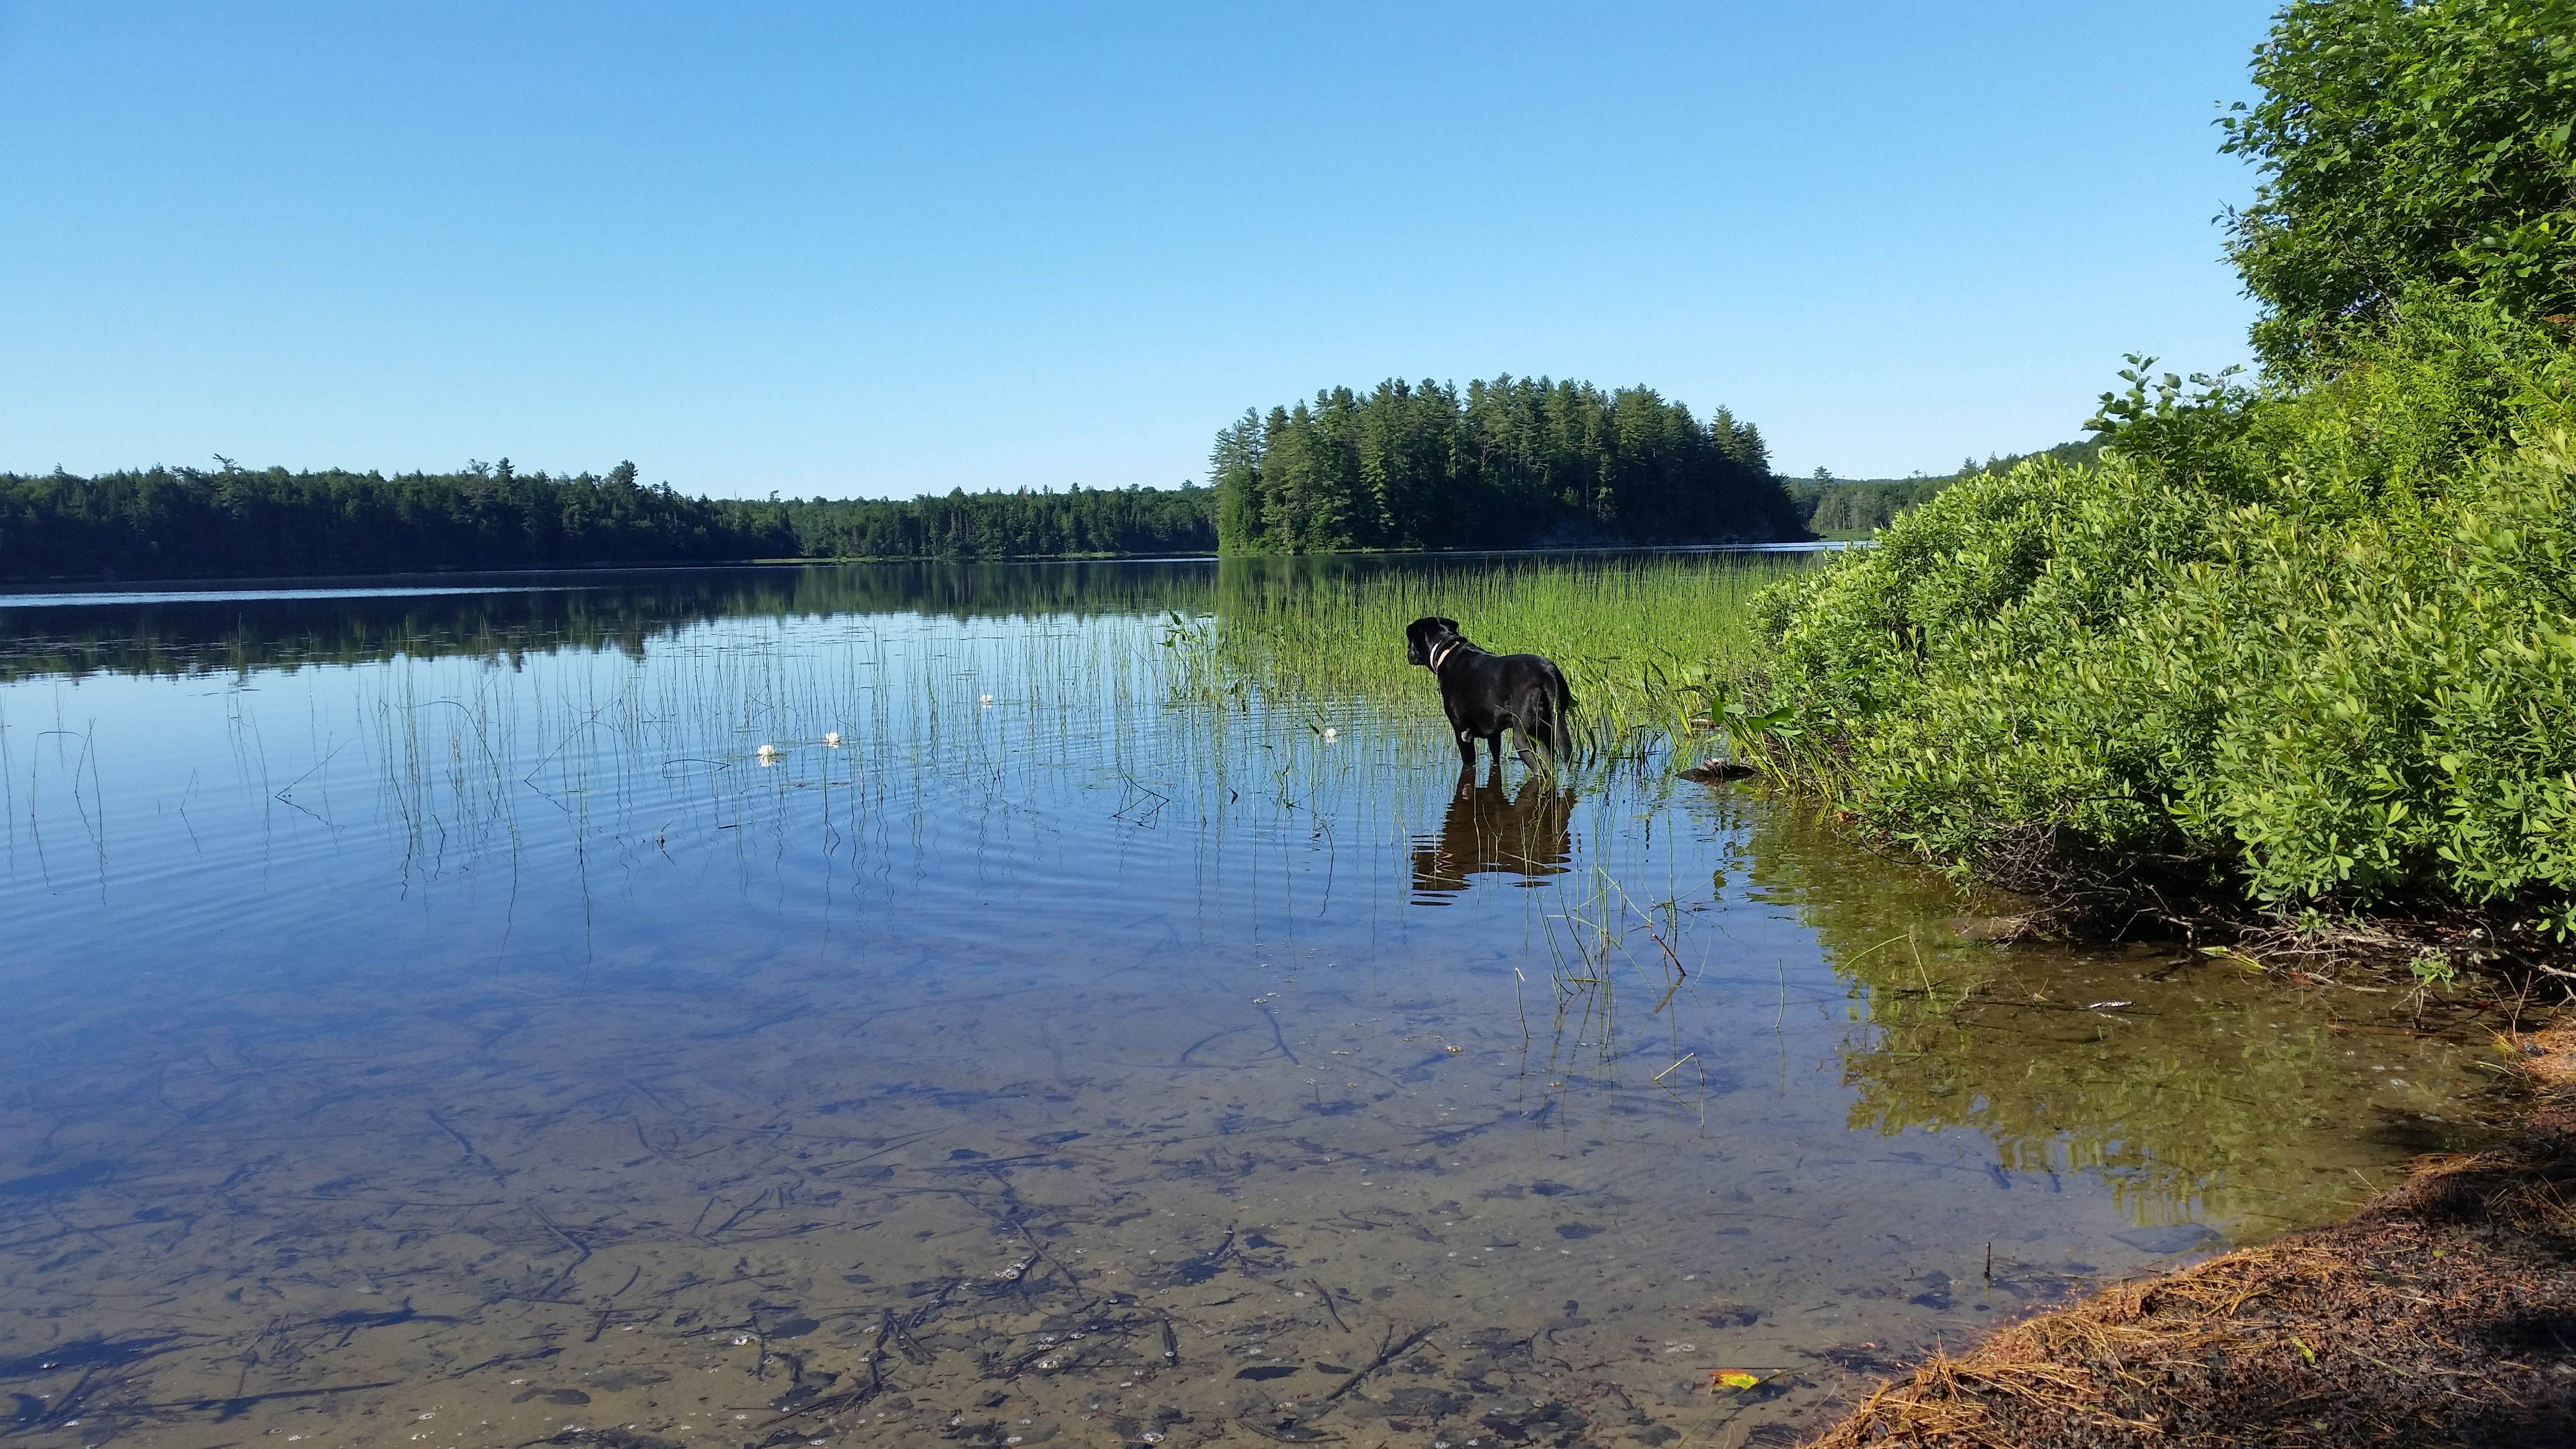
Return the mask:
M2269 364L2331 353L2416 281L2576 312L2576 3L2298 0L2254 80L2221 124L2264 173L2228 250Z

